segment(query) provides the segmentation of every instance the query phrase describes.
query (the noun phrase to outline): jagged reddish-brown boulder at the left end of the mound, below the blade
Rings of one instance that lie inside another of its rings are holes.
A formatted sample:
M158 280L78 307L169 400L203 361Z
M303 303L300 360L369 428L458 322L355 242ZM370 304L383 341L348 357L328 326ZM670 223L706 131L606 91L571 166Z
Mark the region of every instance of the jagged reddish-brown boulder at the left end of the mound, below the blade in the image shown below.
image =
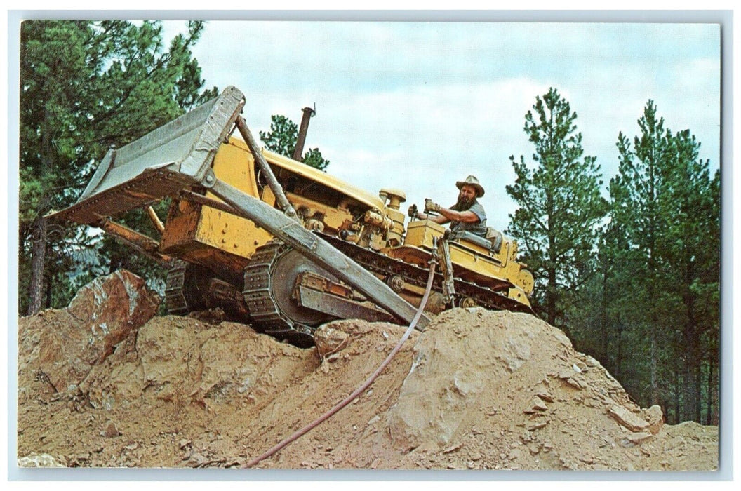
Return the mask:
M22 328L19 323L19 355L24 357L19 370L43 373L57 392L76 390L91 367L153 317L160 301L142 278L128 271L96 278L67 308L24 319Z

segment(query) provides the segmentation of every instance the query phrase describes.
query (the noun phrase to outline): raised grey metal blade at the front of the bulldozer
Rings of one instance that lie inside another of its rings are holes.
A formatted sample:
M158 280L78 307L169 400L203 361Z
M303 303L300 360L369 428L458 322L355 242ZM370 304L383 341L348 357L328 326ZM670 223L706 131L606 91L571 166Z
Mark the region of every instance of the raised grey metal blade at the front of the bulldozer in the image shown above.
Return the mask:
M49 217L95 224L213 179L213 156L244 105L242 92L227 87L190 113L109 150L79 200Z

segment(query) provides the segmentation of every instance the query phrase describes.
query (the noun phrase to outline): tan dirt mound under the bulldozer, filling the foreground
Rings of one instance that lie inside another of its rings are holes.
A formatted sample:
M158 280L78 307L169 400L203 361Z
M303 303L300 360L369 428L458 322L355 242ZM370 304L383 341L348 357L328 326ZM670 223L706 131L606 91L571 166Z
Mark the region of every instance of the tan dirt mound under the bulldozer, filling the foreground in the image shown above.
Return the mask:
M319 331L319 355L220 319L151 318L110 353L87 358L86 370L70 371L80 357L57 350L59 343L47 349L42 333L89 344L79 320L59 310L21 318L19 465L243 467L362 384L404 332L335 321ZM79 380L53 384L42 370L51 366ZM663 425L658 407L634 404L561 331L532 315L455 309L413 333L356 401L258 467L716 470L717 463L717 427Z

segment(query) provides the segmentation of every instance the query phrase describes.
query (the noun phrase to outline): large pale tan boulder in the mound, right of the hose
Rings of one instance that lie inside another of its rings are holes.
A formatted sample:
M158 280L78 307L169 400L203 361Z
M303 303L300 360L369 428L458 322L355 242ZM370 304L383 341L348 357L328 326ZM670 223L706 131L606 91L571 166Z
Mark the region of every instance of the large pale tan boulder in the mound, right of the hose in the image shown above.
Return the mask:
M483 313L486 323L479 318ZM530 359L536 339L505 318L480 308L456 308L438 315L419 335L411 371L388 415L389 432L399 448L427 441L448 445L485 387Z

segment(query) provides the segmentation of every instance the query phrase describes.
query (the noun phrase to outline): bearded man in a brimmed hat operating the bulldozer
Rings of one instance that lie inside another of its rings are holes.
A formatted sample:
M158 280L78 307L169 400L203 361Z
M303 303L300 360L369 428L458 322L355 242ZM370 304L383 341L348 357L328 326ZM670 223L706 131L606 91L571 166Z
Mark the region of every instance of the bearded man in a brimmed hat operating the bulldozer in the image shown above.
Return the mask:
M458 201L450 208L441 207L429 198L425 198L425 213L419 213L416 206L409 209L409 215L419 220L431 220L436 224L451 222L451 232L471 232L477 236L486 236L486 212L476 198L484 196L484 188L475 176L468 176L465 181L457 181ZM431 215L426 212L436 212Z

